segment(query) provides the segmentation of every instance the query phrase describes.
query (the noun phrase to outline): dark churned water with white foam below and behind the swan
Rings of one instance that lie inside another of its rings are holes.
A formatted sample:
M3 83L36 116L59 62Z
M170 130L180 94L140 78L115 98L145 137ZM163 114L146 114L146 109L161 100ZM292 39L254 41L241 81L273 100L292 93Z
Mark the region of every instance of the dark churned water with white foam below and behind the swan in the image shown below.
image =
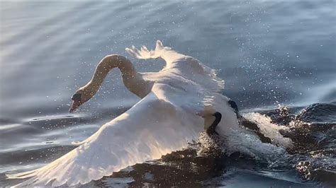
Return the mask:
M315 104L241 113L239 131L225 139L201 133L183 151L134 165L94 184L240 187L240 182L251 181L252 187L333 187L334 107ZM308 119L315 119L314 123Z

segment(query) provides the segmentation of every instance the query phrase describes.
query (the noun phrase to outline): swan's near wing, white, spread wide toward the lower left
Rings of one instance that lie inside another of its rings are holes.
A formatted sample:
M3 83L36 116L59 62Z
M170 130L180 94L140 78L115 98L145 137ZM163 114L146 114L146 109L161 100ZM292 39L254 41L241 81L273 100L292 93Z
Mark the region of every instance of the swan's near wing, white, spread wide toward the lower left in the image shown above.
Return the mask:
M172 90L176 93L167 93ZM29 178L18 186L85 184L186 148L203 131L203 119L188 110L194 100L182 98L178 89L157 83L149 95L74 150L43 168L8 177Z

